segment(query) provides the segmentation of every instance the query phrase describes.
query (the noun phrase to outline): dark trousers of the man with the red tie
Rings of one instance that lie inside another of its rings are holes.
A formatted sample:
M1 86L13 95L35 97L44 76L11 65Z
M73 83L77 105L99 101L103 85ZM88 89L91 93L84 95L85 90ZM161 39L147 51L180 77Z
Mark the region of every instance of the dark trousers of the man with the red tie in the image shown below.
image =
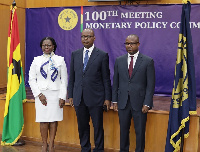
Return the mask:
M144 152L147 114L142 113L142 109L140 111L133 110L128 99L125 109L119 109L118 115L120 123L120 152L129 152L129 132L132 117L136 134L135 152Z

